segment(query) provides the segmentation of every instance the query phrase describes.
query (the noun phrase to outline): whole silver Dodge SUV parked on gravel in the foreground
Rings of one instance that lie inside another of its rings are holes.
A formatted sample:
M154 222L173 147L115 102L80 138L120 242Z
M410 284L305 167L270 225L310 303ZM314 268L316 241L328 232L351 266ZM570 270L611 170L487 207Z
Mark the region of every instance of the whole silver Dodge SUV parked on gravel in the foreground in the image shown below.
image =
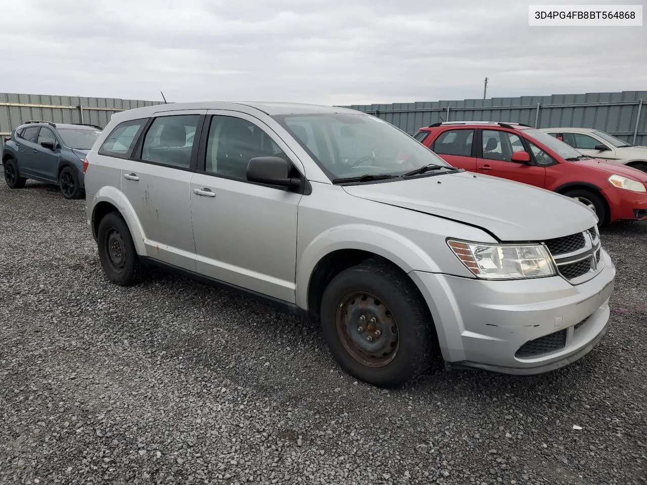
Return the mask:
M551 371L608 327L615 267L590 210L456 169L374 116L149 106L114 114L85 170L111 281L132 285L154 264L302 314L373 385L441 356Z

